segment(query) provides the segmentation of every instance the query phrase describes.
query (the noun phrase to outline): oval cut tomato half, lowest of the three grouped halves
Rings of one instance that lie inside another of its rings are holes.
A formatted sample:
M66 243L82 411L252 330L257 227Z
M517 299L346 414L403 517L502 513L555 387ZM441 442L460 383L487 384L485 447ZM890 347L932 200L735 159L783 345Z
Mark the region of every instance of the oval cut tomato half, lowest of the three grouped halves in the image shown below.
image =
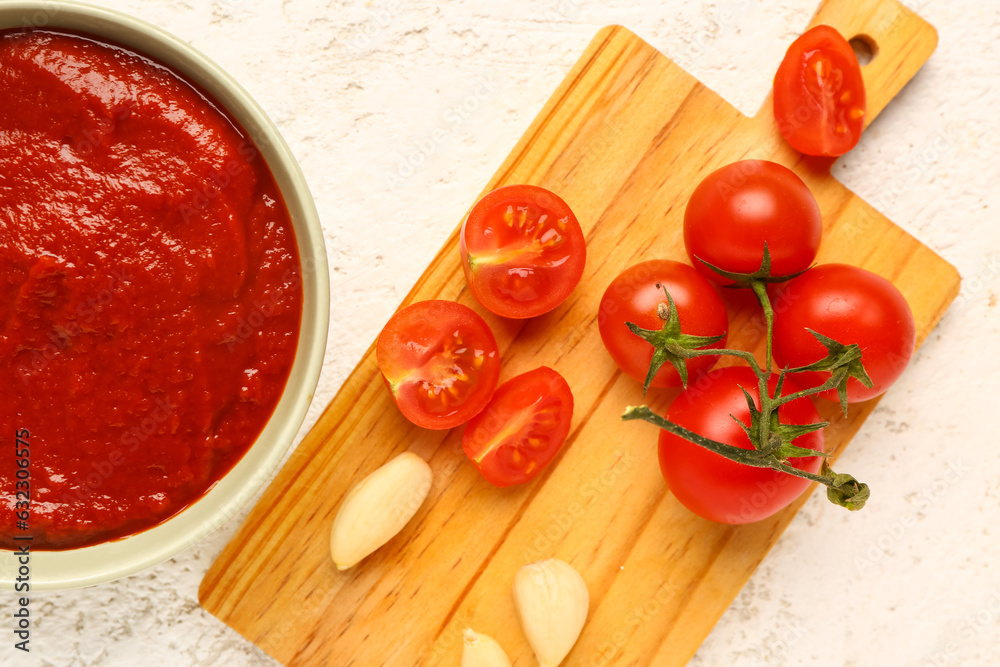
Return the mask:
M542 366L507 380L462 435L465 455L494 486L534 479L569 434L573 392L559 373Z

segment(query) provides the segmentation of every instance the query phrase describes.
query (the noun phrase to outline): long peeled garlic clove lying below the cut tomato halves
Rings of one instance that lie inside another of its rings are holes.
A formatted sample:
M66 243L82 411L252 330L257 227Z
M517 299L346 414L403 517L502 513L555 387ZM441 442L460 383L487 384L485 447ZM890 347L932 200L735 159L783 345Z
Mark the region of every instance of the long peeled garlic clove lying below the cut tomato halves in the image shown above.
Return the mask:
M431 468L404 452L351 489L333 520L330 554L338 570L356 565L403 529L431 490Z

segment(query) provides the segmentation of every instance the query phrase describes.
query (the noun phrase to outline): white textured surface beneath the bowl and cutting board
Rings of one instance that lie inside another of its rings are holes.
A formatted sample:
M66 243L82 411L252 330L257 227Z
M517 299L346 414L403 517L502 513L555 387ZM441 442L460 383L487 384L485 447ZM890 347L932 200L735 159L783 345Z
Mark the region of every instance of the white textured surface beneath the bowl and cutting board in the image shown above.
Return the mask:
M834 172L957 266L962 293L843 458L875 499L849 514L815 494L697 667L1000 665L1000 455L988 429L1000 375L1000 3L906 2L940 45ZM333 293L304 433L599 27L628 26L753 114L816 0L99 4L222 65L302 164ZM3 594L0 664L274 664L197 603L244 516L144 574L33 594L27 659L11 648Z

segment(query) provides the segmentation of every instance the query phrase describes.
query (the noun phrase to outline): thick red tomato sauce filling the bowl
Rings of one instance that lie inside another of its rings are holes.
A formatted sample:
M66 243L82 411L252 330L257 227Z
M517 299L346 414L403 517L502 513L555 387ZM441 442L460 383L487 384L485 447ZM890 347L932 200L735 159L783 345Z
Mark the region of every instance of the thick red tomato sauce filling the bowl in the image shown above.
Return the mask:
M161 523L246 453L301 266L256 146L166 67L6 31L0 91L0 546L69 549Z

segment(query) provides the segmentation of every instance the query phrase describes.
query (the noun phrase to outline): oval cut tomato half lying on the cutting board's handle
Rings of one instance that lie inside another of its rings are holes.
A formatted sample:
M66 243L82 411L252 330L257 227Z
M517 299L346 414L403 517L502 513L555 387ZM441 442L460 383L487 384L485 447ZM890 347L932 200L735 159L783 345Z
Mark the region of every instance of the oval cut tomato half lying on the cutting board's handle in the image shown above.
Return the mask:
M774 76L774 119L792 148L843 155L861 138L865 81L854 49L818 25L792 42Z

